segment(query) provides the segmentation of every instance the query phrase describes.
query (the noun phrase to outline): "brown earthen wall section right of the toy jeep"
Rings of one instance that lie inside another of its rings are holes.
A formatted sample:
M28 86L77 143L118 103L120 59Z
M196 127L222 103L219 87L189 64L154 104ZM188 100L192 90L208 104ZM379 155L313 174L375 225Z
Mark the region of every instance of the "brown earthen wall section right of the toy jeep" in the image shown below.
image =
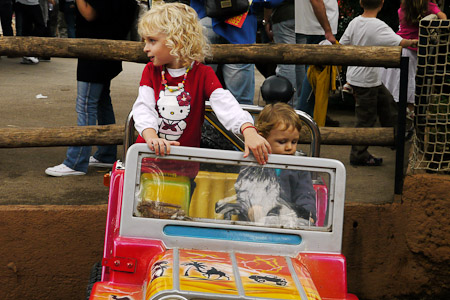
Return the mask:
M410 175L402 203L346 205L348 288L360 299L450 299L449 176Z

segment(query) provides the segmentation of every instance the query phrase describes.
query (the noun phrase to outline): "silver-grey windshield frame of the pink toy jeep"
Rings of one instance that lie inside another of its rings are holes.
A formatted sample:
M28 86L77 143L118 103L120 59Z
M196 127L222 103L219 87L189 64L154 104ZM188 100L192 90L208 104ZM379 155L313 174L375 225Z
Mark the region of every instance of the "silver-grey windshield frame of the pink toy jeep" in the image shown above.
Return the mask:
M171 154L164 159L177 159L207 163L221 163L240 166L257 165L253 157L243 158L242 152L201 149L190 147L171 147ZM172 220L154 219L133 216L135 206L136 188L140 181L140 162L144 157L155 157L146 144L135 144L127 153L127 164L124 179L124 194L122 201L120 236L149 238L164 241L167 247L180 247L192 249L252 251L254 253L277 253L288 255L299 251L341 252L343 206L345 197L345 168L339 161L297 157L286 155L270 155L267 166L277 168L302 169L323 172L329 175L329 214L327 227L314 227L309 229L269 228L258 225L242 225L236 222L210 222L204 220ZM261 234L275 234L282 237L298 236L298 244L286 244L280 247L279 243L259 243L246 241L227 241L220 239L204 239L188 236L173 236L167 234L168 226L181 226L185 228L198 227L202 229L221 229L255 232ZM149 230L151 228L151 230Z

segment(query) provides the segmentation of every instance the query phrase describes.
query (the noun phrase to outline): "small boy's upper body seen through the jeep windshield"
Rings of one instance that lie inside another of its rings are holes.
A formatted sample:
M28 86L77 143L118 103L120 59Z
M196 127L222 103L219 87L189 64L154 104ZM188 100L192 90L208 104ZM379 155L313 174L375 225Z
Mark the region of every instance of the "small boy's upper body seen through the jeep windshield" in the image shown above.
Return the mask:
M237 203L257 225L314 224L315 192L309 172L245 167L235 183Z

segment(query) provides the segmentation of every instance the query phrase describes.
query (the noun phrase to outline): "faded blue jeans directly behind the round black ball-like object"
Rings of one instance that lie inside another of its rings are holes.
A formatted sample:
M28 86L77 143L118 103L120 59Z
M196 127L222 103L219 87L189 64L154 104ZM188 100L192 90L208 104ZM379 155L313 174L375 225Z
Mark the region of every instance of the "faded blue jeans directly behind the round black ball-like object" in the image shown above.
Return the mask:
M295 44L295 19L282 21L272 25L273 39L277 44ZM296 80L296 65L277 65L277 75L284 76L295 87L297 93L294 95L294 107L297 107L300 91L302 90L302 82L297 83ZM304 66L300 65L303 68ZM304 72L304 71L303 71ZM303 77L302 77L303 78Z

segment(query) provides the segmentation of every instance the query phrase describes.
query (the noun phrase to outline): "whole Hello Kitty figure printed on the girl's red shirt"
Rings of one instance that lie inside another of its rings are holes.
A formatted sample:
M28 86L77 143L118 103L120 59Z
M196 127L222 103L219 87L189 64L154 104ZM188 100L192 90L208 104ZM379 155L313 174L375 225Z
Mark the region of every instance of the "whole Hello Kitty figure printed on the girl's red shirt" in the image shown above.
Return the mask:
M184 121L191 111L191 96L184 89L178 91L161 90L158 100L159 137L176 141L186 128Z

